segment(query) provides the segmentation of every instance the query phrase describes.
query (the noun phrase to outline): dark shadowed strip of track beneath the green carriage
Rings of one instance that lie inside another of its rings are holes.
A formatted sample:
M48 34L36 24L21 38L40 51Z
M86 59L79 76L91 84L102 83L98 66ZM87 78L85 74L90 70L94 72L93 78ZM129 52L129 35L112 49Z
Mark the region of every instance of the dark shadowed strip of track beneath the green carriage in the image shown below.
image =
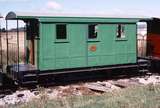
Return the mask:
M30 85L16 85L13 81L6 79L7 83L0 87L0 98L5 95L12 94L17 90L36 90L37 86L41 87L52 87L59 85L70 85L76 83L86 83L86 82L94 82L94 81L103 81L103 80L117 80L117 79L125 79L131 77L145 76L147 73L139 73L138 71L95 71L95 72L80 72L80 73L72 73L72 74L62 74L55 76L52 79L39 79L38 84L30 84Z

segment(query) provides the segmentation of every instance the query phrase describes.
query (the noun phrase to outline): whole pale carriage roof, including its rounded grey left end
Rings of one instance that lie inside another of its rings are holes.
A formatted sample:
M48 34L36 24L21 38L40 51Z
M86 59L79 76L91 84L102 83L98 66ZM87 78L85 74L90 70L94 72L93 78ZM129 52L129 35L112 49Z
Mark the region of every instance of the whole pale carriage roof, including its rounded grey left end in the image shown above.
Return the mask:
M82 14L82 13L34 13L34 12L9 12L6 19L39 19L39 18L113 18L113 19L148 19L148 16L125 14Z

